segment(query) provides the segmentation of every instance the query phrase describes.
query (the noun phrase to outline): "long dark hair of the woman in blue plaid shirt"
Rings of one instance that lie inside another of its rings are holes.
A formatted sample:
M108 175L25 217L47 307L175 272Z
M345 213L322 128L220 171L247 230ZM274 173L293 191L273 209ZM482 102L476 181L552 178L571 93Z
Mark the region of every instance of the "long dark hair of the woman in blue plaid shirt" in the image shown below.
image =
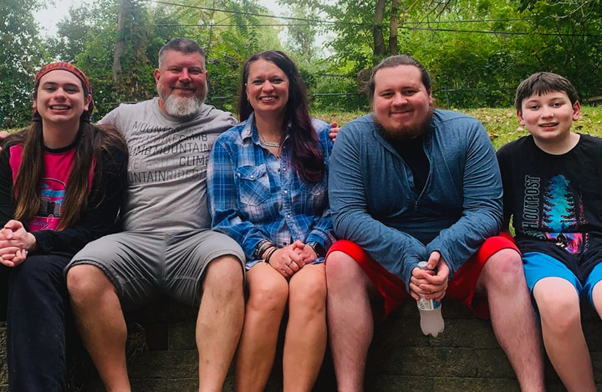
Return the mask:
M247 79L251 64L263 59L276 64L288 77L288 101L286 103L283 134L286 134L288 125L290 129L290 141L293 144L293 152L290 158L291 165L297 170L299 176L308 182L320 182L326 172L324 165L324 153L319 148L319 141L312 118L309 117L309 105L305 84L295 63L281 51L264 51L251 56L242 67L242 78L238 94L238 117L245 121L253 112L251 103L246 93Z

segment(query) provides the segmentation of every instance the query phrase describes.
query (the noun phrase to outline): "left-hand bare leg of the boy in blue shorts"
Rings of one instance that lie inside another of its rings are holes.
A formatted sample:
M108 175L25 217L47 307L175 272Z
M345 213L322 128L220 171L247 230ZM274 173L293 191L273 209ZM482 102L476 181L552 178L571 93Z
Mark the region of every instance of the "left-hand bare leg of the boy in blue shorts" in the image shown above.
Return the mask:
M565 279L548 277L535 284L533 295L541 315L543 344L563 384L568 391L596 391L577 290Z

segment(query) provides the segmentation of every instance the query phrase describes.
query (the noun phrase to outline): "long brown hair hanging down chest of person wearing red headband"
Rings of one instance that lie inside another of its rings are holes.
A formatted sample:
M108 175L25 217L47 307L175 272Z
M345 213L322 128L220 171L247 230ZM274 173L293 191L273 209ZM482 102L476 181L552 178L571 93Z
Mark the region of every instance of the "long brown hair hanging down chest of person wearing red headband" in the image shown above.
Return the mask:
M82 218L90 200L98 200L98 204L102 202L104 188L111 186L111 184L99 186L102 184L103 153L117 150L123 151L127 156L128 151L125 139L112 125L91 125L89 122L80 121L74 143L73 167L68 177L58 230L75 225ZM15 219L23 221L36 215L41 202L39 184L42 183L45 172L42 123L33 122L29 128L11 134L6 139L4 148L14 144L23 146L21 164L12 192L16 202ZM91 194L89 189L92 163L94 163L92 187L102 194ZM118 170L127 170L127 160Z

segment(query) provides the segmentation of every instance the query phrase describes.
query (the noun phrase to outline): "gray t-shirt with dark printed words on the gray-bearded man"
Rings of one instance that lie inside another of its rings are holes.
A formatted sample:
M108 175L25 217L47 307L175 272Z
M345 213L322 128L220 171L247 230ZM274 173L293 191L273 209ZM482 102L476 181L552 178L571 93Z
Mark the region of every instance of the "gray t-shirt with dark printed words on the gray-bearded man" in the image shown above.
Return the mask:
M238 123L203 104L191 118L173 118L159 99L121 105L101 124L115 125L128 142L128 201L124 229L183 232L211 228L207 163L215 139Z

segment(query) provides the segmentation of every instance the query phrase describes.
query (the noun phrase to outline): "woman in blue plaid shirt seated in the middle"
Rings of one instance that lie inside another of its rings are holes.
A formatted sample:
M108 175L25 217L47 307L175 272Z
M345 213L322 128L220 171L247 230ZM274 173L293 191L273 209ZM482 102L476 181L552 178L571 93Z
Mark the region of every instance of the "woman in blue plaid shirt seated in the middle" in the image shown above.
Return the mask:
M326 350L330 125L309 117L299 72L281 51L247 60L238 114L240 125L216 140L207 172L212 228L247 256L236 386L264 390L288 306L284 391L310 391Z

